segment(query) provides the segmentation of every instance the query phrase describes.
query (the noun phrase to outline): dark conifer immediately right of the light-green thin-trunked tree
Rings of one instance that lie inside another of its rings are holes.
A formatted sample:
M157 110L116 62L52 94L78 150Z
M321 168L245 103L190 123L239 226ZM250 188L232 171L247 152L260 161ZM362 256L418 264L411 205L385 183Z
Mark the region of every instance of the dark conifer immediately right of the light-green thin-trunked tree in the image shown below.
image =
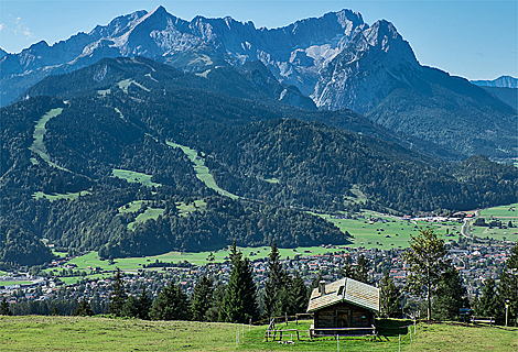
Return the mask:
M470 308L467 290L461 273L450 265L441 275L433 297L433 317L439 320L454 320L458 318L461 308Z

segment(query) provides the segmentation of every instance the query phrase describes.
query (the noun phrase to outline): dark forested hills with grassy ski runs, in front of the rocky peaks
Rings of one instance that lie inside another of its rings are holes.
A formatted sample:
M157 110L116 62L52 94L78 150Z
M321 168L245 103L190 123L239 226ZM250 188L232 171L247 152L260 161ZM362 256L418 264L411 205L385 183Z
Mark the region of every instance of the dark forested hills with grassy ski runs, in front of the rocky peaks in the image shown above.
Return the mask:
M116 64L40 86L66 99L37 96L2 108L3 266L50 261L41 239L104 257L216 250L233 240L345 244L347 235L303 211L408 213L516 202L516 168L485 157L438 161L348 110L260 102L278 89L271 81L255 86L260 69L233 72L248 86L225 90L229 81L161 72L149 61ZM207 187L173 145L194 150L217 186L238 199Z

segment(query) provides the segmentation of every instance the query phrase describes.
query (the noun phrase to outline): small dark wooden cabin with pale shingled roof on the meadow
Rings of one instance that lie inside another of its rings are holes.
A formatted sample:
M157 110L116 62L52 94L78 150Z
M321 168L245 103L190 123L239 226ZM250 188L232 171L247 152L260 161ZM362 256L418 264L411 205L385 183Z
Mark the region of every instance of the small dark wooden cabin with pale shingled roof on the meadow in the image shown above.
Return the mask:
M307 312L314 314L313 336L375 334L379 288L348 277L320 282L311 293Z

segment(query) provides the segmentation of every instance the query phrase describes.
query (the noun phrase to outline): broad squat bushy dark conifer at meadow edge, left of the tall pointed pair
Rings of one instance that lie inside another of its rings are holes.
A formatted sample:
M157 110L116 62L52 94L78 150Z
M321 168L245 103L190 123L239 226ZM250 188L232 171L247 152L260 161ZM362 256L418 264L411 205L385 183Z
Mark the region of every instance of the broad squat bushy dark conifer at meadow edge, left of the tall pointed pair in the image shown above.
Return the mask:
M187 320L187 295L171 282L153 301L149 316L153 320Z

